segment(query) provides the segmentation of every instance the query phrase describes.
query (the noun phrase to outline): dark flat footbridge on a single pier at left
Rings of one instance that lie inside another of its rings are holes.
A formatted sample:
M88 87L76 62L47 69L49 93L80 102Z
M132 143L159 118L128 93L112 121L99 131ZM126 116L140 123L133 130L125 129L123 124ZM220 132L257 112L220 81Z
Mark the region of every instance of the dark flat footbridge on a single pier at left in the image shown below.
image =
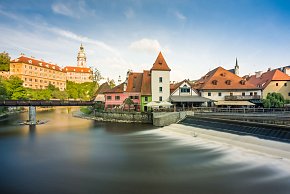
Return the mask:
M93 106L94 101L73 100L0 100L0 106L28 106L29 124L36 124L36 106Z

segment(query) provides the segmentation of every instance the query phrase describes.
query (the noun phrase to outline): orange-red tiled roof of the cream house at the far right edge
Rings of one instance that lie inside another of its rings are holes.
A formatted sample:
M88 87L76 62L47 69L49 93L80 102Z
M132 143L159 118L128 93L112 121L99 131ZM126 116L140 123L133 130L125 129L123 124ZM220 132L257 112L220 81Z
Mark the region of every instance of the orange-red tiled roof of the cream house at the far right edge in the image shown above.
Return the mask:
M264 89L271 81L290 81L290 76L275 69L263 73L260 77L252 75L248 78L248 81L257 87Z

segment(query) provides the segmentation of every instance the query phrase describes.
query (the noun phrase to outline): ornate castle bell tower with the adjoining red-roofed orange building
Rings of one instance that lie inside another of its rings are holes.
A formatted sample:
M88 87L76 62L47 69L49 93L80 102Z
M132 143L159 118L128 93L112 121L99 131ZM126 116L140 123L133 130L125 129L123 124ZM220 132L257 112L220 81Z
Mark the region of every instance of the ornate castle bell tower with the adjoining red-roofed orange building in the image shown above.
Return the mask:
M68 81L73 81L75 83L93 81L93 71L87 67L87 57L82 44L77 56L77 67L66 66L64 69Z

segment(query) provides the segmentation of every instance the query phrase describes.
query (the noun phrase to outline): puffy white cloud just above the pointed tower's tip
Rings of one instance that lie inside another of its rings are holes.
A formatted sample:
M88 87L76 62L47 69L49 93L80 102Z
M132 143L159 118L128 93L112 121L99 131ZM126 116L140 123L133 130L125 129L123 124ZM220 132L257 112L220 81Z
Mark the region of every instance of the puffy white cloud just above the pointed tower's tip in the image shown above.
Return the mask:
M161 50L161 46L158 40L147 39L147 38L143 38L141 40L132 42L129 48L136 51L146 51L148 53L151 53L151 52L156 53Z

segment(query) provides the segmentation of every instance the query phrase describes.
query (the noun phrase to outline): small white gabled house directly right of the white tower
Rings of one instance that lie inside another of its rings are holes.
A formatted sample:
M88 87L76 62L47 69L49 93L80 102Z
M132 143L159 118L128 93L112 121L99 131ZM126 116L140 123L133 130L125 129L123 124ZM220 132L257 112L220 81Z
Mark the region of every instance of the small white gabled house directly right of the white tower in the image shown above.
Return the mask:
M206 106L210 99L199 96L188 80L170 84L170 101L177 109Z

